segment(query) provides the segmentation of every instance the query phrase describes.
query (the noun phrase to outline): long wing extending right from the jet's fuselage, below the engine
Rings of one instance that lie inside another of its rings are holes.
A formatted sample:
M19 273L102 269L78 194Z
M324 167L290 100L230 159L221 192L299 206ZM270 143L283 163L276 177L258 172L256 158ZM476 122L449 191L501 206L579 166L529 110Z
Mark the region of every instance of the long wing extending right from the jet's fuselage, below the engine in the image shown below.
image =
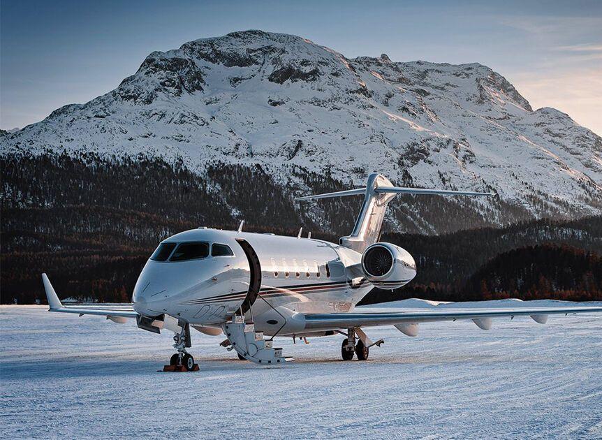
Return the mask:
M353 311L351 313L304 314L306 330L331 330L333 328L370 327L376 325L403 325L434 321L472 319L483 328L490 318L501 316L531 316L538 323L545 323L548 315L602 312L602 307L515 307L490 309L445 309L420 311ZM478 321L478 322L477 322ZM480 325L481 324L481 325ZM487 328L483 328L487 330Z

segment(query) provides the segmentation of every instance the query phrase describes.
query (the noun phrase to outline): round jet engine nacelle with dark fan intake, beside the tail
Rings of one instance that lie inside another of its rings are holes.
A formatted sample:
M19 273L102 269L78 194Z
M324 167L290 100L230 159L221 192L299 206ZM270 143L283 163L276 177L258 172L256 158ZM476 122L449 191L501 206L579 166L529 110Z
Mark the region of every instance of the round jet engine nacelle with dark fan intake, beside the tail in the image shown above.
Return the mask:
M379 242L368 247L362 255L362 269L374 286L390 290L405 286L416 277L412 256L392 243Z

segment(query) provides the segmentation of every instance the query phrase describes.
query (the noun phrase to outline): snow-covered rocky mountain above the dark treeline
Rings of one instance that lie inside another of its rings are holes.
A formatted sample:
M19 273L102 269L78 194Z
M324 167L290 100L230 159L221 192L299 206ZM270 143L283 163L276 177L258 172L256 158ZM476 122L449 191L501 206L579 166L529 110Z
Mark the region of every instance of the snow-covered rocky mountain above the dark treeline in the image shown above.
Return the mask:
M3 156L142 153L200 175L208 163L259 164L286 197L315 189L300 173L493 190L499 199L444 201L430 214L461 206L483 224L602 213L602 138L558 110L532 110L490 68L348 59L263 31L152 52L117 89L0 142ZM418 231L445 230L420 212L429 203L399 198L390 224L409 216ZM321 207L311 209L319 223Z

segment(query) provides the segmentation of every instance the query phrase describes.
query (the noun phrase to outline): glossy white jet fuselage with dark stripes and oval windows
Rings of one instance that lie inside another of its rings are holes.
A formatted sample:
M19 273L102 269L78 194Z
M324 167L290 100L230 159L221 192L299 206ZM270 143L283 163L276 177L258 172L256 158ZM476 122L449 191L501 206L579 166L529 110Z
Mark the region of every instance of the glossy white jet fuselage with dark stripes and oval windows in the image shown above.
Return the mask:
M290 335L291 314L350 311L373 288L361 270L362 254L322 240L198 228L161 244L168 243L221 244L233 255L149 259L132 299L144 316L219 327L242 307L258 330ZM406 282L415 275L408 269Z

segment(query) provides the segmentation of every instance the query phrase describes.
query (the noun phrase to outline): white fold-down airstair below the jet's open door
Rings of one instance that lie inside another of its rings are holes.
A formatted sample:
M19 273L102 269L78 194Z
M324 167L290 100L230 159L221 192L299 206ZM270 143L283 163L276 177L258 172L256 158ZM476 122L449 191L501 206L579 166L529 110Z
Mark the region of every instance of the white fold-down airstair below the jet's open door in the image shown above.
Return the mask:
M272 339L263 339L263 332L256 332L253 323L244 323L242 316L223 323L221 328L233 349L243 358L260 365L280 365L291 362L282 349L274 348Z

